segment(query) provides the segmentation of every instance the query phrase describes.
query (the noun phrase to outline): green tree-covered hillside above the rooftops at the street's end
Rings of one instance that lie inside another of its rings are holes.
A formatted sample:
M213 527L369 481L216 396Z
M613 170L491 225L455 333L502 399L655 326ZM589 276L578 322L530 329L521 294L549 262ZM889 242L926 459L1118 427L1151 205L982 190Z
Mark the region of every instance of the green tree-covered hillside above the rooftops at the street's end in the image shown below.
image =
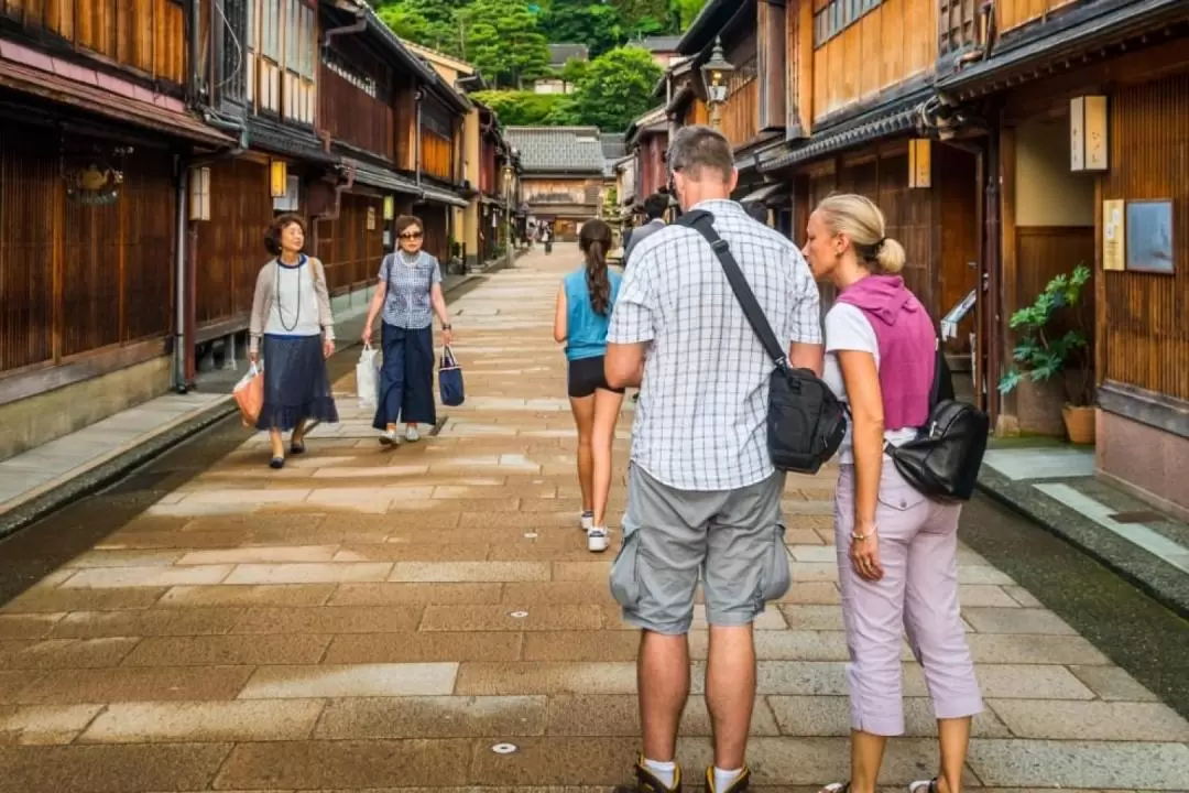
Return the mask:
M492 90L477 95L507 125L592 125L624 130L653 103L661 69L631 46L646 36L677 36L706 0L379 0L380 19L398 36L474 64ZM591 62L549 67L548 44L585 44ZM558 77L574 93L534 94L531 82Z

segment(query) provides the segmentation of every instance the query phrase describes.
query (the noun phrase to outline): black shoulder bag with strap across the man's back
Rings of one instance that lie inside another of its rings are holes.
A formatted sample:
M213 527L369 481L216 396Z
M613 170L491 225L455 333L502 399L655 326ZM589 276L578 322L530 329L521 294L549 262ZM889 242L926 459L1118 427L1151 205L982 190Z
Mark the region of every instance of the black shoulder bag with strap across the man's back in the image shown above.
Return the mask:
M768 454L772 465L778 471L817 473L838 451L847 435L845 408L813 372L788 365L788 351L780 348L776 334L755 300L755 292L731 256L726 240L715 231L713 221L711 213L696 209L681 215L675 224L697 231L710 243L751 329L776 364L768 380Z

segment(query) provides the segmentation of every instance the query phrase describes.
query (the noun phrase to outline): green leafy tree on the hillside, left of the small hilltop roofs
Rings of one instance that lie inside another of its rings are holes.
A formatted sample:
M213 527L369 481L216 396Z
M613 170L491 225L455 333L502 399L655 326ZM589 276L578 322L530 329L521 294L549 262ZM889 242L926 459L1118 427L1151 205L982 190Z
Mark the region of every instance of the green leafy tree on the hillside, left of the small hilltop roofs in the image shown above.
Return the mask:
M474 0L458 10L463 57L493 84L523 88L549 71L549 48L523 0Z

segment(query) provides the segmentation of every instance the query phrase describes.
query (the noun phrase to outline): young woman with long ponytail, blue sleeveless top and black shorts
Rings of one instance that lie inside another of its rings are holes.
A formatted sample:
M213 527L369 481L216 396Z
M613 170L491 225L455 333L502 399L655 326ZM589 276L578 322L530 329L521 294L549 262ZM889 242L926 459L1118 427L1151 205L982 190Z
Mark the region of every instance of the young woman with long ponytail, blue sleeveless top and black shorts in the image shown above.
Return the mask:
M586 547L606 550L606 501L611 490L611 445L623 405L623 389L611 388L603 371L611 307L619 294L619 275L606 266L611 227L602 220L583 225L578 247L583 266L567 275L558 290L553 339L566 345L570 361L570 408L578 424L578 484L583 493L579 525Z

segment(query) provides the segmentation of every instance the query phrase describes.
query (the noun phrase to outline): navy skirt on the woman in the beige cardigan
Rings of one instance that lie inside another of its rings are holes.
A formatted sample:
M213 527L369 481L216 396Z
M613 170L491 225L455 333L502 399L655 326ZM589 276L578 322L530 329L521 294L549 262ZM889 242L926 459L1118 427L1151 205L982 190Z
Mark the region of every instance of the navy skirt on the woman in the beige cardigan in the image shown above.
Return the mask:
M339 421L322 336L264 336L264 408L257 429L289 430L301 421Z

